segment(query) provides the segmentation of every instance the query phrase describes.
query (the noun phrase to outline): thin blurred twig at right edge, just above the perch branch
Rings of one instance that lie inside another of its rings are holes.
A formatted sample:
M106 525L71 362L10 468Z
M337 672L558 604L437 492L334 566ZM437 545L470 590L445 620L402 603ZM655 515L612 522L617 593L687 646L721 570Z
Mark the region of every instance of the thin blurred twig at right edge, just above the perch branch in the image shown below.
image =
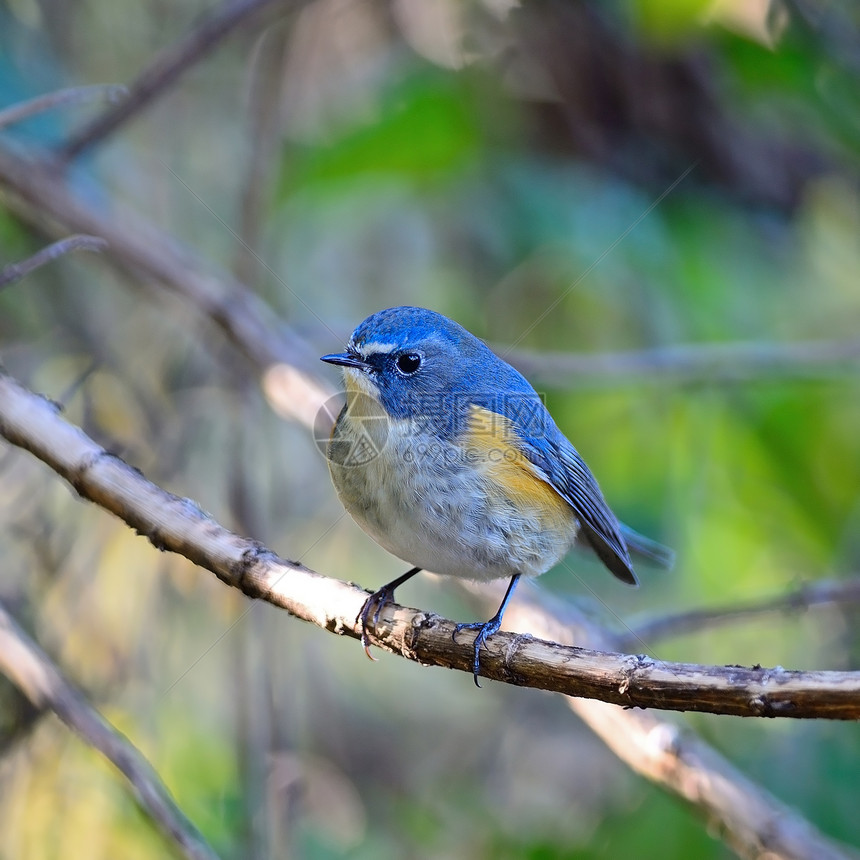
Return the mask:
M788 594L778 594L750 603L697 609L694 612L655 618L634 627L633 631L623 635L620 641L622 646L629 647L635 642L654 642L669 636L700 633L709 628L734 624L770 612L799 612L814 606L849 603L860 603L860 580L814 582Z

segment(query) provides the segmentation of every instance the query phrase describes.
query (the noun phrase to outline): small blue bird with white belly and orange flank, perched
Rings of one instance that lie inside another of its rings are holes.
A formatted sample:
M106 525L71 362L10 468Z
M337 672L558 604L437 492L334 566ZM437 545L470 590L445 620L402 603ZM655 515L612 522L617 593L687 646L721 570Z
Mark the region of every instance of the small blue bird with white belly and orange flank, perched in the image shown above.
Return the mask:
M479 582L509 578L498 611L474 630L472 671L521 577L536 577L575 545L636 585L634 552L670 567L667 547L622 525L582 457L531 384L482 340L419 307L380 310L358 325L341 368L346 403L326 459L337 495L380 546L412 565L365 601L369 628L422 570Z

